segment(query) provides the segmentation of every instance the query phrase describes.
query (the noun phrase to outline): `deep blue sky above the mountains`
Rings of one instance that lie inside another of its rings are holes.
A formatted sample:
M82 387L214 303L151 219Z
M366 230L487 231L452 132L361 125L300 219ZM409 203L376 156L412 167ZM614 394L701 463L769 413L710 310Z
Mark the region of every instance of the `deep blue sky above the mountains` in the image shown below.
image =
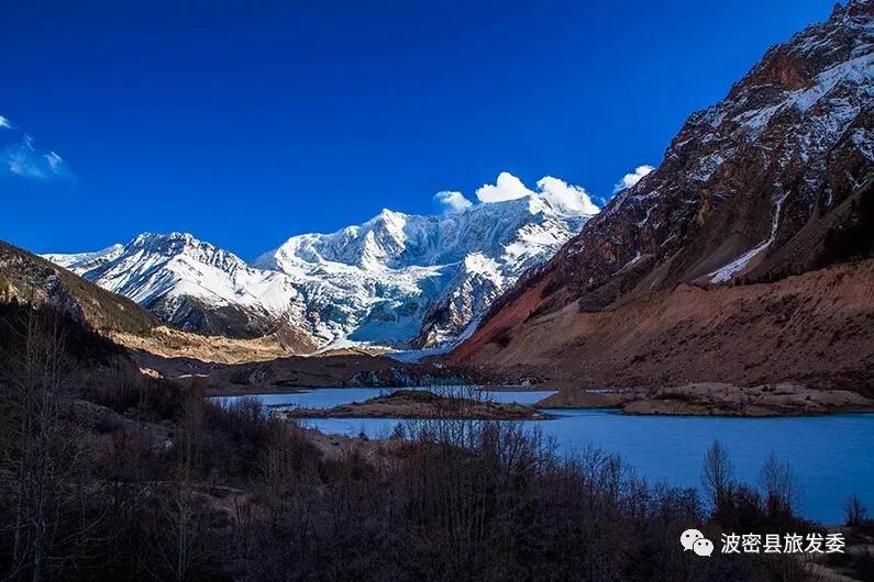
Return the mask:
M502 171L609 195L832 3L4 0L0 238L253 258Z

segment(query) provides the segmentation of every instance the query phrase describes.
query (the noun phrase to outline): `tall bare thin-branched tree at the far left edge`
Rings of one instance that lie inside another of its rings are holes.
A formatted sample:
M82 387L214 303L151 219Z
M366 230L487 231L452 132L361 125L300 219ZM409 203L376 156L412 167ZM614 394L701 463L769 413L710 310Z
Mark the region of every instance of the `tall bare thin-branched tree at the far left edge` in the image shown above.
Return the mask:
M13 490L8 577L40 581L51 577L53 564L70 559L70 545L85 541L84 522L73 523L74 515L84 518L74 511L81 502L74 479L80 443L62 418L70 401L63 390L69 366L59 316L29 309L14 333L3 398L2 461Z

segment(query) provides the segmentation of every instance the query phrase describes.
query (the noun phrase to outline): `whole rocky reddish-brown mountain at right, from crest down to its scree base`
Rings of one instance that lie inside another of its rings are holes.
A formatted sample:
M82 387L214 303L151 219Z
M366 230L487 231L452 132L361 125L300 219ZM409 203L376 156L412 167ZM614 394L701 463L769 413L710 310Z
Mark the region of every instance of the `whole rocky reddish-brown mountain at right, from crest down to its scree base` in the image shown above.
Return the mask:
M777 345L761 344L771 336L760 328L763 323L752 307L756 298L775 292L773 281L872 256L873 81L872 0L838 5L825 23L771 48L722 102L687 120L655 171L612 200L552 260L528 271L499 299L449 360L528 367L582 380L595 374L605 381L620 381L610 376L620 370L628 372L620 374L627 381L659 381L662 372L678 373L677 381L712 380L722 373L716 363L731 376L726 381L804 373L812 366L808 358L796 370L768 369L773 362L762 350L781 352L777 347L787 339L776 334L772 339ZM831 363L852 361L853 369L864 370L874 358L874 326L864 326L874 311L872 271L838 267L829 272L834 278L830 286L843 286L862 300L842 302L836 295L834 311L826 315L810 307L821 316L808 318L781 310L776 329L787 332L783 326L788 322L840 337L839 322L849 317L853 326L863 325L856 331L861 351ZM806 277L787 280L799 286L795 300L825 301L829 284L808 288ZM716 321L695 305L672 311L668 305L683 293L686 301L728 293L693 293L682 283L702 290L740 284L732 293L745 300L727 306L729 313ZM718 325L726 318L732 327ZM611 329L596 329L594 322L622 327L615 333L654 327L655 335L641 331L641 337L661 344L648 343L649 356L622 343L612 346L609 357L598 355L598 342ZM702 322L711 325L701 327ZM710 345L716 351L708 354L716 360L700 361L711 366L689 363L696 351L674 345L687 327L697 332L684 346ZM730 336L752 358L741 358L740 370L722 359L737 351L722 343ZM702 344L705 338L716 344ZM801 355L815 349L797 347ZM628 371L640 363L638 357L656 360L648 360L655 376Z

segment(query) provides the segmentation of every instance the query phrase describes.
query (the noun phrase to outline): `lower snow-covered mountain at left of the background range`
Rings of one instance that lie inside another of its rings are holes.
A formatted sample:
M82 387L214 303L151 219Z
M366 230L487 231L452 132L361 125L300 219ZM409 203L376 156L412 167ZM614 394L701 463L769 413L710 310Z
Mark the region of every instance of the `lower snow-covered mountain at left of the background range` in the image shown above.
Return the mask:
M229 337L277 334L298 349L311 347L299 332L302 304L287 277L253 269L189 234L145 233L97 253L45 258L178 327Z

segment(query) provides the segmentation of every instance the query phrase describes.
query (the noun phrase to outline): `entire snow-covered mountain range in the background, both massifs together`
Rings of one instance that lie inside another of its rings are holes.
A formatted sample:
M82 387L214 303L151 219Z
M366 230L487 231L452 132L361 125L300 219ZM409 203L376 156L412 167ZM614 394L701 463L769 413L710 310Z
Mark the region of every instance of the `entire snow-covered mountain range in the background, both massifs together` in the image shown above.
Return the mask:
M433 347L452 344L574 236L591 215L586 202L536 192L443 215L384 210L335 233L294 236L252 265L179 233L45 257L187 329L281 333L297 349Z

